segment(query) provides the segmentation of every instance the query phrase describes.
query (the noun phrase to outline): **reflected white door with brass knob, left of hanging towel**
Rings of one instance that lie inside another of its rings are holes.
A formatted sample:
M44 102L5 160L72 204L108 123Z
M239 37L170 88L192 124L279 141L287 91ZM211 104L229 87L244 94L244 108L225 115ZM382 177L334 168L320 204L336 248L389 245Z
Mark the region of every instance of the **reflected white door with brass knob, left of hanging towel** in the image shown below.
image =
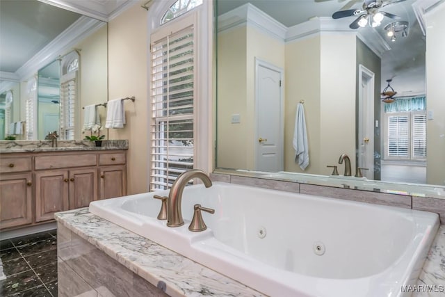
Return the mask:
M276 172L284 168L282 77L280 68L256 60L255 170Z

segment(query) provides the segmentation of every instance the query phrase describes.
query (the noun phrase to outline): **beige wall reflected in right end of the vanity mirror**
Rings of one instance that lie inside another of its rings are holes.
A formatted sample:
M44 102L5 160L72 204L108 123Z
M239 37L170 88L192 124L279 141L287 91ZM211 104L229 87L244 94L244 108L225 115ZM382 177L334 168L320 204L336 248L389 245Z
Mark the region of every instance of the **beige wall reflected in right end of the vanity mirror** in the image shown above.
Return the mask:
M108 99L107 81L107 26L102 26L97 32L88 36L74 48L80 49L81 74L80 74L80 97L81 106L80 125L77 125L76 139L83 139L81 135L83 127L83 106L104 103ZM98 106L102 126L105 126L106 109ZM105 130L106 131L106 130ZM101 132L103 134L104 132Z

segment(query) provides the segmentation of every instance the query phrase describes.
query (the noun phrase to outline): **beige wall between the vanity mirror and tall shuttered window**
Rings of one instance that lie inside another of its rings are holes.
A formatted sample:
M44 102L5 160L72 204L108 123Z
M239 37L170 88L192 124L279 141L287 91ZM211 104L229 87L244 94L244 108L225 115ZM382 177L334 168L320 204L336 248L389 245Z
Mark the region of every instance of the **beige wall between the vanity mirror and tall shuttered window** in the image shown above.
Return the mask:
M109 139L128 139L128 194L148 191L147 10L135 5L108 23L108 97L124 102L127 125L108 129Z

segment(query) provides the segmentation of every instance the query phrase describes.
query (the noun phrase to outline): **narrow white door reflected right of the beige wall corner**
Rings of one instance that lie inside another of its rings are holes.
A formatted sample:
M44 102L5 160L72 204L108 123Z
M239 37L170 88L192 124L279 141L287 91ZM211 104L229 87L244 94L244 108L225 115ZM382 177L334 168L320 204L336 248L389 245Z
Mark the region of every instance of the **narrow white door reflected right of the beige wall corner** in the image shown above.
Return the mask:
M364 177L374 179L374 73L359 65L359 160Z

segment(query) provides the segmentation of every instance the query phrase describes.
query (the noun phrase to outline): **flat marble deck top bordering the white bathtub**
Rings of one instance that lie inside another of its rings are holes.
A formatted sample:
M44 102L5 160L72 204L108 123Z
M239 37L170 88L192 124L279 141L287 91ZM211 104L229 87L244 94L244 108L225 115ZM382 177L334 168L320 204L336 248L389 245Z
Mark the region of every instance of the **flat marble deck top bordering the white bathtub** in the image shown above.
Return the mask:
M154 286L159 281L165 282L165 293L170 296L265 296L143 236L95 216L88 208L61 212L55 217L58 223ZM184 268L187 273L184 273ZM419 287L413 289L423 286L442 291L445 287L445 225L439 227L417 286ZM443 294L414 291L412 296L444 296Z

